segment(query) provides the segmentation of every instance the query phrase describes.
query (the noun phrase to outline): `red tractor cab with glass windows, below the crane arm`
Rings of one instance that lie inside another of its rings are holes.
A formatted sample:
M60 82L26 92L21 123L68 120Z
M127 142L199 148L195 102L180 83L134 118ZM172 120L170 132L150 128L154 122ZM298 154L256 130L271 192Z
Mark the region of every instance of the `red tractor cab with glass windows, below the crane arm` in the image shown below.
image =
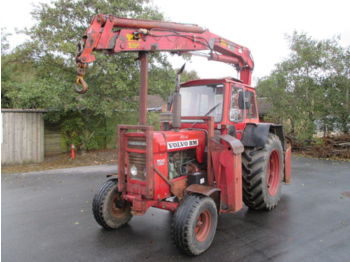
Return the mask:
M233 78L201 79L180 88L181 116L212 116L214 128L241 138L246 123L258 123L255 89ZM204 128L202 120L182 120L182 128ZM229 132L229 130L231 130Z

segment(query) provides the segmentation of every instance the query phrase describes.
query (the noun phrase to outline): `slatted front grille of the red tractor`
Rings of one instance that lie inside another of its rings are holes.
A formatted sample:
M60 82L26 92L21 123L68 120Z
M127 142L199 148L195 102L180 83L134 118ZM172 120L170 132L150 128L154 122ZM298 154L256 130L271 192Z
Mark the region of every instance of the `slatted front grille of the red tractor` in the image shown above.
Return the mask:
M146 139L144 137L129 137L129 149L146 150ZM145 180L146 178L146 153L128 152L129 169L133 166L137 168L137 175L131 176L132 179Z

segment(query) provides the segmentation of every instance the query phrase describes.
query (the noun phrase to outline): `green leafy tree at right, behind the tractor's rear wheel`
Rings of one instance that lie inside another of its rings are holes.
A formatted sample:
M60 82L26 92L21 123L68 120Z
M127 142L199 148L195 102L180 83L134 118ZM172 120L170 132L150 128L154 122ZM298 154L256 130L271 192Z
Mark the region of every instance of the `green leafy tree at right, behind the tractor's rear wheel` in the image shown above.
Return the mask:
M348 132L349 48L336 38L318 41L297 32L289 43L289 57L258 83L259 95L273 106L270 118L302 140L313 136L317 123Z

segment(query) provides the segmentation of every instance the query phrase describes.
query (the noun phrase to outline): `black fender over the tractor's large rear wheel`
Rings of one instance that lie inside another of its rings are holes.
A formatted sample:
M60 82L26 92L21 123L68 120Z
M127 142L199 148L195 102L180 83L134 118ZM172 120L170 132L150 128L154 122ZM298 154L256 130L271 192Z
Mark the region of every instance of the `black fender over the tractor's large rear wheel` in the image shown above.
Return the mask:
M281 140L283 151L285 151L285 137L283 126L271 123L247 123L242 137L245 147L263 147L269 133L275 134Z

